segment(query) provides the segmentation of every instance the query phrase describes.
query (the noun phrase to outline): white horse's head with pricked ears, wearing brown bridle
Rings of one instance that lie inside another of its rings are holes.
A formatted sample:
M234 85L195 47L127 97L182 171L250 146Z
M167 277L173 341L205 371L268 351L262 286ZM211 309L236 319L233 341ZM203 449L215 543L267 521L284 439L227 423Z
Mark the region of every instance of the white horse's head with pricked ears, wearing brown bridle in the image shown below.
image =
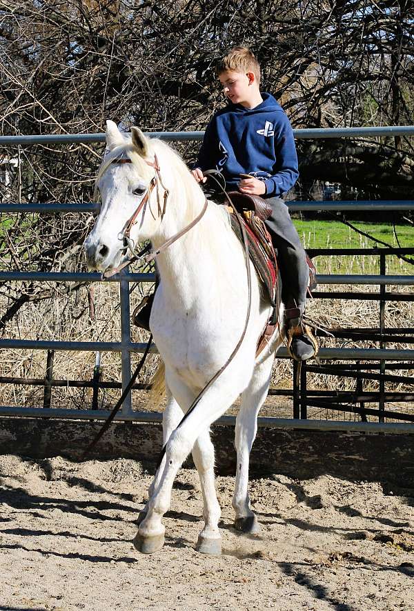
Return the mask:
M100 271L119 265L128 240L135 245L155 236L170 182L168 164L160 170L154 143L138 128L129 137L107 121L106 143L95 185L101 212L84 244L88 266Z

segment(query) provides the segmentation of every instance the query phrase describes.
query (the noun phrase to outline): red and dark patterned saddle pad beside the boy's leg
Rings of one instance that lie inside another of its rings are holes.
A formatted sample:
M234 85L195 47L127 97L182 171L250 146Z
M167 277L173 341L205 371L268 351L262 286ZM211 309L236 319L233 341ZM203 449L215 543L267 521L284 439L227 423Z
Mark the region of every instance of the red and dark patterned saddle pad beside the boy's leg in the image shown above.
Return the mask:
M275 249L272 245L272 239L270 238L264 222L251 210L244 211L240 216L242 217L244 229L246 230L250 259L266 288L270 303L275 307L277 259ZM230 214L230 220L233 231L243 243L242 230L234 213Z

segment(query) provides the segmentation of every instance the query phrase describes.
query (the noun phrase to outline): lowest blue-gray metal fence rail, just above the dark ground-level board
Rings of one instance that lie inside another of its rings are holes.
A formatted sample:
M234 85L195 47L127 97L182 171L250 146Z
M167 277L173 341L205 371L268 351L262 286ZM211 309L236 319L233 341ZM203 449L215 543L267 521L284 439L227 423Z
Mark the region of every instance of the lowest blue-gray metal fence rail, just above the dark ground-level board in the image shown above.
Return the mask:
M0 416L26 416L29 418L67 418L72 420L106 420L110 412L108 410L63 410L58 408L14 408L1 407ZM130 414L117 414L117 421L126 422L161 422L162 414L159 412L130 412ZM234 416L222 416L215 425L235 426ZM366 433L392 433L413 434L414 426L408 423L395 422L349 422L335 420L299 420L293 418L259 417L257 425L261 428L279 428L286 430L303 429L318 431L348 431Z

